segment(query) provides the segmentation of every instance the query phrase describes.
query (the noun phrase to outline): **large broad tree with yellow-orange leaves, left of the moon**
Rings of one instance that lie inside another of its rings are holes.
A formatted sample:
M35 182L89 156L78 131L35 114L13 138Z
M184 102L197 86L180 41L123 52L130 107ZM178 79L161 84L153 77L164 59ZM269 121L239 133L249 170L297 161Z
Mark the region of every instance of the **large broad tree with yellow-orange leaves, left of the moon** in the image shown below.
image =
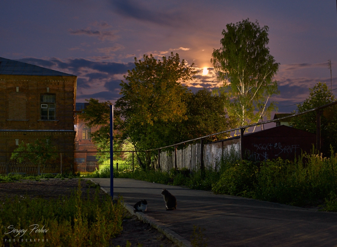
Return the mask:
M116 102L117 128L135 150L163 147L180 140L177 129L187 119L186 99L191 94L181 82L192 79L194 68L179 55L156 60L152 55L134 59L135 68L124 76Z

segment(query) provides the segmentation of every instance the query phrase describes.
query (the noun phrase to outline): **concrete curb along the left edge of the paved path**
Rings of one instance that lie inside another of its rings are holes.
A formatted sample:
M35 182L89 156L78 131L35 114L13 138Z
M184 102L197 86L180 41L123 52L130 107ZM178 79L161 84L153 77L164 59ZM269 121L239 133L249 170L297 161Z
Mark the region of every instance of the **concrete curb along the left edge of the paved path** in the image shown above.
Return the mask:
M90 179L93 183L97 184L95 181ZM105 188L101 188L105 193L109 194L109 191ZM114 199L118 199L118 197L114 196ZM179 247L192 247L192 244L190 241L186 240L176 232L172 231L170 228L168 228L164 223L158 222L153 217L146 215L143 212L133 212L133 207L131 207L127 203L123 203L123 206L126 210L129 211L131 215L137 216L139 220L143 221L144 223L149 223L151 227L155 228L157 231L162 233L166 236L166 238L170 239L174 244L178 245Z

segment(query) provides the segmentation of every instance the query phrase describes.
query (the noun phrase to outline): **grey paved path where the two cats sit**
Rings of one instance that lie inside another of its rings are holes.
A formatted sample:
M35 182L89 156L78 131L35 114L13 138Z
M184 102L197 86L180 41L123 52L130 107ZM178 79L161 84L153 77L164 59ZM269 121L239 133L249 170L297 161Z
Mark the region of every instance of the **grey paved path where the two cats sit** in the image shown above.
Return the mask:
M92 180L110 195L110 179ZM176 196L177 210L165 211L162 188ZM194 225L208 246L337 246L337 213L124 178L114 179L118 195L132 213L146 199L148 212L136 215L180 246L191 246Z

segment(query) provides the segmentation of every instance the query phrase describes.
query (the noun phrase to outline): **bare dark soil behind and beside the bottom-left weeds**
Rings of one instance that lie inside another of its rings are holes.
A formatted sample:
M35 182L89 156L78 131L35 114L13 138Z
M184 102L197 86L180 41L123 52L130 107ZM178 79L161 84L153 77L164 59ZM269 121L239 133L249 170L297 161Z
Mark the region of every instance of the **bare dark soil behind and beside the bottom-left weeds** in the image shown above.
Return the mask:
M0 200L5 198L15 198L16 196L28 196L29 198L59 198L60 196L70 196L78 188L79 179L41 179L21 180L10 183L0 183ZM82 196L87 197L89 190L92 196L96 188L88 180L81 179ZM103 190L99 190L99 196L105 196ZM126 211L126 210L125 210ZM173 242L168 240L163 234L152 228L150 224L143 223L136 216L131 216L126 211L126 217L123 220L123 231L115 239L112 239L112 246L126 246L127 241L131 247L176 247Z

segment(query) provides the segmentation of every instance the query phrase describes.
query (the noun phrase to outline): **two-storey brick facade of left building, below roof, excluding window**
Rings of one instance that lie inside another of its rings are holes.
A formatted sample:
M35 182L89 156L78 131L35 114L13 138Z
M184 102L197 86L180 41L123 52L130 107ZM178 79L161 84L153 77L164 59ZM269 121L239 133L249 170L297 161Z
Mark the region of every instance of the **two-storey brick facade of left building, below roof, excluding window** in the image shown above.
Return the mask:
M52 136L53 145L64 153L64 169L73 169L76 78L0 75L0 162L8 162L16 140ZM56 97L55 120L41 120L40 95L48 93Z

